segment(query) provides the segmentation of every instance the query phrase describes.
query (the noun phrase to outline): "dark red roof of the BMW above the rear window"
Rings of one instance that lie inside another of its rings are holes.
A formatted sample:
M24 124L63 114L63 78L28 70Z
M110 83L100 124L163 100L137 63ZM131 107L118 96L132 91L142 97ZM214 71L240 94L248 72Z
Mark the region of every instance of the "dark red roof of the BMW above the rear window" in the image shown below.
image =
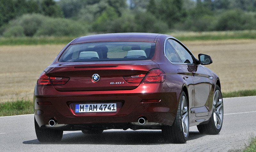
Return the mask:
M82 36L77 38L72 44L90 43L90 42L108 42L108 41L141 41L154 42L156 36L168 36L156 33L110 33Z

